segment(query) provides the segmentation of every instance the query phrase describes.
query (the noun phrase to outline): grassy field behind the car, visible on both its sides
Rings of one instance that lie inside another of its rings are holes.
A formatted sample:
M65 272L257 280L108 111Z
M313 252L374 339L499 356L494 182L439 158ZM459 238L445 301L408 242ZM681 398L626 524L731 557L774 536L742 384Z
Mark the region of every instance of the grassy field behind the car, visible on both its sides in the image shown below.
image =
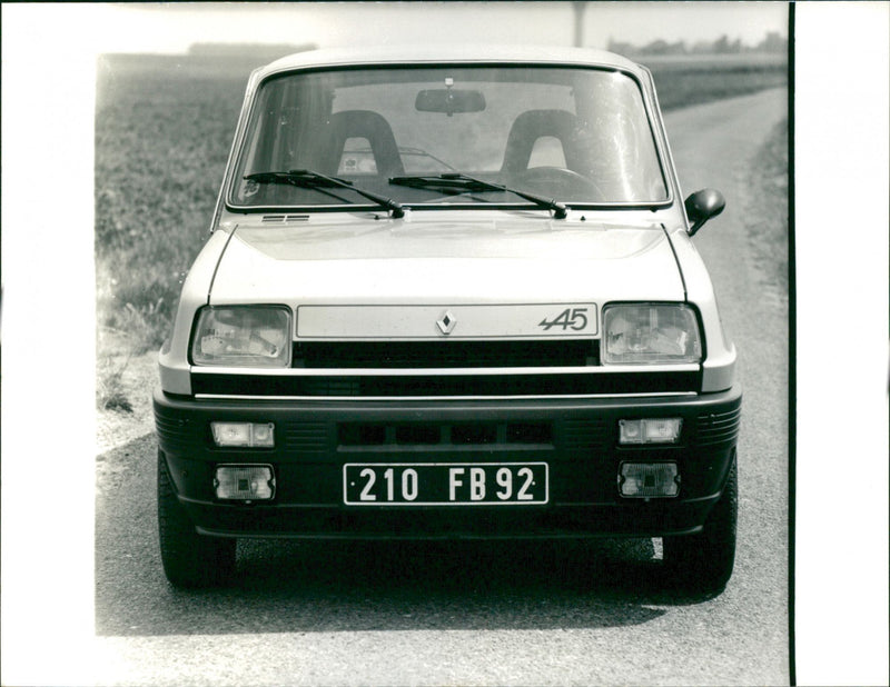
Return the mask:
M784 86L781 59L649 61L665 110ZM105 56L97 70L98 404L127 409L116 379L167 336L208 233L247 77L257 63Z

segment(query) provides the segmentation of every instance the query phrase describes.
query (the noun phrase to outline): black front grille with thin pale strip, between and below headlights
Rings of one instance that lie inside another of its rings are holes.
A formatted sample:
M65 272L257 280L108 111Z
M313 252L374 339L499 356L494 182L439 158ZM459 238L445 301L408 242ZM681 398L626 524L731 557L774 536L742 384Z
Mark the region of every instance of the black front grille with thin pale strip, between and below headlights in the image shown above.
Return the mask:
M298 341L293 352L293 370L281 374L196 368L192 392L283 398L546 398L694 392L701 384L698 370L606 370L595 339Z

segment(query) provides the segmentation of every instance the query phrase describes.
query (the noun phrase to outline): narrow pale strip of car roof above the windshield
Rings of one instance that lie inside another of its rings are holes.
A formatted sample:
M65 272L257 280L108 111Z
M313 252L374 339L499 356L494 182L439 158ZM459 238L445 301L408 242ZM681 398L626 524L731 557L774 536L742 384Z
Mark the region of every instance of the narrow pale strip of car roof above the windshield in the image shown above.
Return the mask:
M644 68L619 54L589 48L554 46L376 46L307 50L260 67L253 81L293 69L342 67L346 64L399 64L418 62L517 62L536 64L583 64L623 69L641 74Z

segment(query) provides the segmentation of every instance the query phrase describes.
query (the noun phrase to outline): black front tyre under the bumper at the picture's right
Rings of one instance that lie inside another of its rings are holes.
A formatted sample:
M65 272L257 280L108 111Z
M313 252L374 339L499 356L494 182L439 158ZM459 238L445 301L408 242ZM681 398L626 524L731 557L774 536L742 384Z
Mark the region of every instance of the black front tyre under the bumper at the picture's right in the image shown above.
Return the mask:
M738 511L739 471L733 460L723 495L704 524L704 530L685 537L664 537L664 564L682 587L718 594L726 586L735 562Z

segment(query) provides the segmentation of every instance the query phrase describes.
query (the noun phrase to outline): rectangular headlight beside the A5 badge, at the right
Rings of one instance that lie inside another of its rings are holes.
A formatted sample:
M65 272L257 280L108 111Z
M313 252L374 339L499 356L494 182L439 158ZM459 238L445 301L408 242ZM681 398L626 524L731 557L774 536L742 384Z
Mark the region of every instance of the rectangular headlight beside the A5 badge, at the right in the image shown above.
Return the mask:
M699 362L699 322L681 305L634 303L603 310L603 364Z

